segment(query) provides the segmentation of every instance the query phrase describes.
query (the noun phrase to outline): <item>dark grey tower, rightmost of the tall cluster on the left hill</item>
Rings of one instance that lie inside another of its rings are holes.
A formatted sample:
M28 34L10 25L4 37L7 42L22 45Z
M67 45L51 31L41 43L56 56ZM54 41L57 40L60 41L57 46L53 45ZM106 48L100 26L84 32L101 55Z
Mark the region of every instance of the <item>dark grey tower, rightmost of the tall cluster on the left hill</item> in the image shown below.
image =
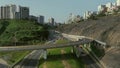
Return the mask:
M20 19L29 19L29 8L19 6Z

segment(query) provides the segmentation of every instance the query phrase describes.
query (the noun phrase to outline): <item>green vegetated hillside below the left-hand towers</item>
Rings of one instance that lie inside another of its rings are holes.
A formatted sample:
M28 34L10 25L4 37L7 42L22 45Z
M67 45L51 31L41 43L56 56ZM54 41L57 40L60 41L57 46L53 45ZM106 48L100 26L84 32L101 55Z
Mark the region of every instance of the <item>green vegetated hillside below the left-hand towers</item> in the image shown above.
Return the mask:
M27 20L0 20L0 45L33 44L48 37L47 28Z

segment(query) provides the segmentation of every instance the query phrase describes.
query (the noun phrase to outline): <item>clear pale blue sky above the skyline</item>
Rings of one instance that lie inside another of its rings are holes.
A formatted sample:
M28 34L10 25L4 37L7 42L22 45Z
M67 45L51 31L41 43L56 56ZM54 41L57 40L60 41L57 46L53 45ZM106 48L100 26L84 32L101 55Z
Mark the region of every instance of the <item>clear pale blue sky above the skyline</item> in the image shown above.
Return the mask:
M97 11L97 6L116 0L0 0L0 6L15 4L30 8L30 15L43 15L45 21L53 17L56 22L64 22L70 13L83 16L85 11Z

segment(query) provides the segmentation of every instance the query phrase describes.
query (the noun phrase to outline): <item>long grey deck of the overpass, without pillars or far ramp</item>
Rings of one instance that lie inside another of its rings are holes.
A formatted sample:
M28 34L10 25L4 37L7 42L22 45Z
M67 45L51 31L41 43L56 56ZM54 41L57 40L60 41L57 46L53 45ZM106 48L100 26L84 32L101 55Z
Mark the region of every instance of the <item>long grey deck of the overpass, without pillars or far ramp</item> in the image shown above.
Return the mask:
M23 51L23 50L40 50L40 49L52 49L62 47L73 47L83 44L91 43L93 40L84 39L81 41L74 41L65 44L44 44L44 45L27 45L27 46L7 46L0 47L0 51Z

